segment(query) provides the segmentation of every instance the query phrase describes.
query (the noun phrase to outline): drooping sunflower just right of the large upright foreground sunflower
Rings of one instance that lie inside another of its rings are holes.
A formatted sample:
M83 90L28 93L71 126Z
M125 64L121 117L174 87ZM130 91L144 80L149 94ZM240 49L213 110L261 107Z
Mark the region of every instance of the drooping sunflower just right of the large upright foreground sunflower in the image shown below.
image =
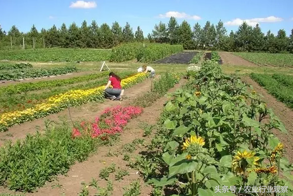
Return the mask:
M238 151L237 155L234 156L234 159L232 161L232 168L234 172L238 175L243 175L247 167L258 166L259 157L254 155L254 152L247 152L246 150L244 150L243 152ZM246 158L253 159L252 166L249 166L248 162L246 161Z

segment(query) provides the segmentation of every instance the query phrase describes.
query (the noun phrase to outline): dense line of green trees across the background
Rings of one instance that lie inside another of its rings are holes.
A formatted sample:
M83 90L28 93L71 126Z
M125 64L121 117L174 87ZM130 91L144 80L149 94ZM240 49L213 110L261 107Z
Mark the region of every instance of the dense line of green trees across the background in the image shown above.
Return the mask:
M134 32L128 22L123 27L118 22L112 26L107 23L99 26L94 20L90 25L83 21L80 27L74 22L69 27L63 23L60 28L53 25L50 29L42 28L40 32L33 25L26 33L20 32L15 25L8 32L0 26L1 49L21 49L23 37L25 48L32 48L33 40L35 48L112 48L124 42L148 41L182 44L184 49L293 53L293 29L290 35L280 29L275 36L270 30L264 34L258 25L252 27L244 22L235 32L229 33L222 21L216 25L207 21L202 27L199 23L191 26L185 20L178 24L174 17L168 24L156 24L147 38L144 38L140 26Z

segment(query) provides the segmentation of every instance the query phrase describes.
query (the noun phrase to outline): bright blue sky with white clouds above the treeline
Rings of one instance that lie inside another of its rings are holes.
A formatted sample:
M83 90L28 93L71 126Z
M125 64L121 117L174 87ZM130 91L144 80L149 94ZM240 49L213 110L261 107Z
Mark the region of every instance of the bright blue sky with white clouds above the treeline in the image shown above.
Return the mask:
M175 16L179 23L184 19L191 27L199 22L202 26L209 20L216 24L220 19L228 31L235 30L246 20L252 26L259 23L263 32L269 29L276 34L284 29L289 36L293 28L292 0L1 0L0 25L8 31L16 25L20 31L29 31L32 24L38 30L48 29L64 22L81 25L95 20L99 25L114 21L124 26L129 22L135 32L139 25L144 36L152 31L159 21L168 23Z

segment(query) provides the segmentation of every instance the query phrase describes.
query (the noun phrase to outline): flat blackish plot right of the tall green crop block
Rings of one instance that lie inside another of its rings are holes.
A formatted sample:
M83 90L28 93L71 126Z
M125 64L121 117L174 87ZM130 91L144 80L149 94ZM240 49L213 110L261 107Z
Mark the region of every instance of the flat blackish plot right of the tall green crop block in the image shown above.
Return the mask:
M154 63L178 63L178 64L188 64L189 61L193 58L194 55L197 55L198 52L181 52L173 54L166 58L159 59L154 61Z

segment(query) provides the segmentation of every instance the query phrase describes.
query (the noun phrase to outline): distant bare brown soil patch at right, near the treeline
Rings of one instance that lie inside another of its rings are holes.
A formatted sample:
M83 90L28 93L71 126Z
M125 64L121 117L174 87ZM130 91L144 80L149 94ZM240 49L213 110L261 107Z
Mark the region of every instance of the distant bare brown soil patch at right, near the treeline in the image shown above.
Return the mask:
M247 66L247 67L257 67L256 64L249 62L239 56L235 56L229 52L218 52L223 60L223 64L227 66Z

